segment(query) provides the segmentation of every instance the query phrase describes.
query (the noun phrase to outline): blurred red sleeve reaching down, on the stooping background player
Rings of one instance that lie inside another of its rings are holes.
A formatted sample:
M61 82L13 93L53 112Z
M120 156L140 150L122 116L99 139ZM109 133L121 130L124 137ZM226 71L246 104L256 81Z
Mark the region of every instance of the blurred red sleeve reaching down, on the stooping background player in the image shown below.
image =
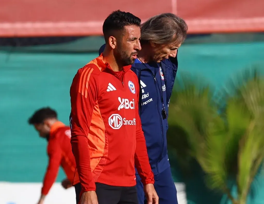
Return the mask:
M55 182L59 172L60 162L62 159L62 150L55 141L51 141L48 144L48 156L49 164L46 170L46 174L44 176L43 187L41 189L41 194L43 195L48 194L51 186Z

